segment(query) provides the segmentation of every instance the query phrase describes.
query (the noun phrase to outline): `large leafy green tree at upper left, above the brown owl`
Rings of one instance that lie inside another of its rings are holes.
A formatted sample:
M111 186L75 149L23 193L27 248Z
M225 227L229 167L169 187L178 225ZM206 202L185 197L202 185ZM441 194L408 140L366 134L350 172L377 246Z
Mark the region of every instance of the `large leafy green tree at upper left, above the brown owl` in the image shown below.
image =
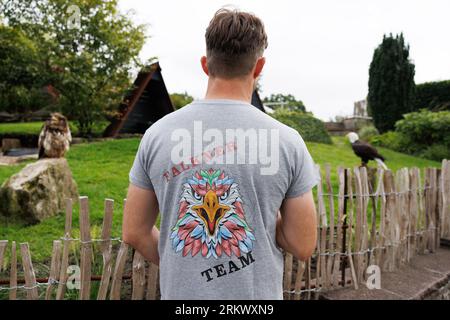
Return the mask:
M90 135L113 116L130 87L145 26L118 11L118 0L4 0L4 22L38 44L42 79L61 94L60 106Z

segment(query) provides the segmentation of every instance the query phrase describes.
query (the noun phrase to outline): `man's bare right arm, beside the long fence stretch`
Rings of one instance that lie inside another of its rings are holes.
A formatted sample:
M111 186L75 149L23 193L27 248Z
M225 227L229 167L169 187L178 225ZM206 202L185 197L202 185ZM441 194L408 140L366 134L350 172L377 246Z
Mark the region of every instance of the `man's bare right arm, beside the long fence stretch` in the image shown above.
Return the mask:
M317 242L316 208L312 191L283 201L278 213L278 246L305 261L313 254Z

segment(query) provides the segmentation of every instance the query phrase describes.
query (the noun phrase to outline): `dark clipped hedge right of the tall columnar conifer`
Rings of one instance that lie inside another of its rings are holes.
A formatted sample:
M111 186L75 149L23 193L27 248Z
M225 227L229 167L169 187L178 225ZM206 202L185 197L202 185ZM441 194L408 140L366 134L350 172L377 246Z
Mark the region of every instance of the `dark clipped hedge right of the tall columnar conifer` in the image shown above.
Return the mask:
M423 108L433 111L450 110L450 80L427 82L416 86L414 111Z

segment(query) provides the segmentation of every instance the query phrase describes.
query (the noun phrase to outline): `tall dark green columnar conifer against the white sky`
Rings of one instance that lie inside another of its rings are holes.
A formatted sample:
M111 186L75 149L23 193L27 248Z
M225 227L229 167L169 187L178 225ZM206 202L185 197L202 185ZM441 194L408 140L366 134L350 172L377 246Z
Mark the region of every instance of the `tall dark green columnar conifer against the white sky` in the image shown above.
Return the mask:
M403 34L383 36L369 69L369 114L381 132L392 130L396 121L414 106L415 66Z

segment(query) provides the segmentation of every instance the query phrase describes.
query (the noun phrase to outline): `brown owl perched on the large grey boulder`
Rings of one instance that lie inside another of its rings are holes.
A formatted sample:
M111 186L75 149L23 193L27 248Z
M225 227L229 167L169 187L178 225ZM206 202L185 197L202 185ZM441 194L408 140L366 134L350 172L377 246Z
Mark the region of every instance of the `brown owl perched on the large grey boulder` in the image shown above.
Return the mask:
M67 118L60 113L52 113L39 134L39 159L64 157L71 142Z

